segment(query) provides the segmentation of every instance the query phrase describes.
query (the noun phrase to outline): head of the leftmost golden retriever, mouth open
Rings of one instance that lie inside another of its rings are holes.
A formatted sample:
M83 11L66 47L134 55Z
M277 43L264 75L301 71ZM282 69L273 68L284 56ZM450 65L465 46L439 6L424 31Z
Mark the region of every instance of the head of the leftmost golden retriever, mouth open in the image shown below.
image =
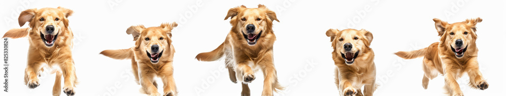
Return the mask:
M28 9L19 15L19 26L25 25L30 22L29 26L32 29L30 34L39 34L40 40L44 42L47 47L52 47L57 41L58 34L66 30L68 27L68 19L74 13L72 10L65 8L43 8L43 9Z

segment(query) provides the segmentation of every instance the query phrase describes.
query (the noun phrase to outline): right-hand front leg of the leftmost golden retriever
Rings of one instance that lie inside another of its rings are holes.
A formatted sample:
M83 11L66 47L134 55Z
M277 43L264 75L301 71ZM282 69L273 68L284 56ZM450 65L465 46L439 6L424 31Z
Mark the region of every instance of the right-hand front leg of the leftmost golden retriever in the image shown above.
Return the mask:
M72 60L68 60L60 65L63 72L63 92L67 95L75 94L75 82L77 77L75 76L75 67Z

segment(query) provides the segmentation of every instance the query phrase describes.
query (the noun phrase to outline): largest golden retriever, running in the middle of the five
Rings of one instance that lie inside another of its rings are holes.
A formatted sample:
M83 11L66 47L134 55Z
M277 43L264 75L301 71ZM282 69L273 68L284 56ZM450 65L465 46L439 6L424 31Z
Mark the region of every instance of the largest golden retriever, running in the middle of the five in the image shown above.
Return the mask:
M214 51L198 54L199 61L216 61L225 55L225 65L230 80L242 82L242 95L249 95L248 83L255 80L255 72L264 73L262 95L273 95L283 89L278 83L273 60L273 44L276 40L272 22L279 20L276 13L264 5L258 8L239 6L228 11L225 20L231 18L232 29L225 41Z

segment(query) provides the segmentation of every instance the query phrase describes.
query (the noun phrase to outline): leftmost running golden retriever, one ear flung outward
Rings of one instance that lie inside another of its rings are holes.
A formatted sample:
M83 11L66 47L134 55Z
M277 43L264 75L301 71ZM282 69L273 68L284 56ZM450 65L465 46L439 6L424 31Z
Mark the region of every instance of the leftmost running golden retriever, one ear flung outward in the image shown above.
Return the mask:
M19 15L19 26L29 23L28 28L11 29L5 37L20 38L28 36L30 46L28 61L25 69L25 84L29 88L40 85L37 75L44 68L52 69L56 73L53 95L60 95L61 77L64 78L63 92L67 95L75 94L74 60L72 59L73 34L68 26L68 17L73 11L65 8L28 9Z

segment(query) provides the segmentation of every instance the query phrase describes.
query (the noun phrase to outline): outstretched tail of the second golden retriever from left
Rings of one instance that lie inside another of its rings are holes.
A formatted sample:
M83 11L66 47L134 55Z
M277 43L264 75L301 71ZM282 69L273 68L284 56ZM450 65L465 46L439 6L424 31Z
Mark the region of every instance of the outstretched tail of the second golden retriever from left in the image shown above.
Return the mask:
M105 50L100 52L100 54L110 57L112 59L132 59L134 57L134 52L131 49L122 49L122 50Z

